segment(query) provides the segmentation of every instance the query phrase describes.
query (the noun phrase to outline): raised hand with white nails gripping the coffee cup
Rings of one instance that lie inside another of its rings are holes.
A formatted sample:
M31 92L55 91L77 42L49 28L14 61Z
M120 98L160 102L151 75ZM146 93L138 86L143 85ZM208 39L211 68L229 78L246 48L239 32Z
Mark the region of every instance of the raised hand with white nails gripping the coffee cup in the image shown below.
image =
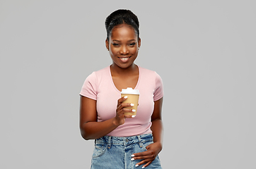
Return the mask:
M125 108L125 107L134 106L133 104L122 103L126 99L127 99L127 96L123 96L117 101L117 110L114 118L115 125L123 125L125 122L125 118L134 118L132 117L132 115L124 115L125 112L133 112L132 108Z

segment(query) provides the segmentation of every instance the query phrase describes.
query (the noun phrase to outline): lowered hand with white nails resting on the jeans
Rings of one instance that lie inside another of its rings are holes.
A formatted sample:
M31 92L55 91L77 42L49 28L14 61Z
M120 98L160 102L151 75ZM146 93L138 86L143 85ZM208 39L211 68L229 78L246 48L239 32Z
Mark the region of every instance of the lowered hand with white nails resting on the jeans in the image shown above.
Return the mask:
M162 150L162 144L159 142L155 142L152 144L149 144L149 146L146 146L147 151L141 152L141 153L136 153L133 154L132 158L134 158L134 160L139 160L139 159L144 159L143 161L136 163L136 167L146 163L145 165L143 165L142 168L146 168L150 163L152 163L152 161L156 158L156 156L160 153L160 151Z

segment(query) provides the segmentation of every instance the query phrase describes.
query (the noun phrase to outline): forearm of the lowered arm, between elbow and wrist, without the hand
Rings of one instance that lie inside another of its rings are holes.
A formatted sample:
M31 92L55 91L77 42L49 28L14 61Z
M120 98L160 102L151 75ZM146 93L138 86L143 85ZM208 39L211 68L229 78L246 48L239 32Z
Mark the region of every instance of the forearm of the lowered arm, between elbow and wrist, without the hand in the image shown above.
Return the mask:
M156 119L152 121L151 131L153 134L153 142L158 142L163 144L163 123L161 119Z

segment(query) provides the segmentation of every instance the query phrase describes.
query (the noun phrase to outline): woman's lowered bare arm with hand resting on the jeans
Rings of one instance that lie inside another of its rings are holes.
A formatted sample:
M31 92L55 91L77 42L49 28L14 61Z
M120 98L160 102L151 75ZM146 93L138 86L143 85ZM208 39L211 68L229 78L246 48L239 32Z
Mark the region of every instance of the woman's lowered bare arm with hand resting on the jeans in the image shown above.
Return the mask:
M144 151L141 153L133 154L134 160L137 159L144 159L143 161L136 163L136 166L146 163L143 168L146 168L160 153L163 146L163 123L162 123L162 104L163 104L163 97L158 101L155 101L155 106L153 109L153 114L151 116L151 130L153 134L153 144L146 146L148 151Z

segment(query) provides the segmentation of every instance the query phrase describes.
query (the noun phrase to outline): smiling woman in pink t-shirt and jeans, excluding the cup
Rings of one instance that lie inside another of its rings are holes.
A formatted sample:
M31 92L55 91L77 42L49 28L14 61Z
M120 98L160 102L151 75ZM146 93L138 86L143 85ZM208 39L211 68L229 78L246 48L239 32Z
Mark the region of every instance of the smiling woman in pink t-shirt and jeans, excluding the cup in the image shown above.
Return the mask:
M158 74L134 64L139 20L132 11L117 10L105 27L112 65L89 75L80 93L81 135L95 139L91 168L161 168L163 84ZM132 111L120 94L127 87L140 92L135 117L124 115Z

